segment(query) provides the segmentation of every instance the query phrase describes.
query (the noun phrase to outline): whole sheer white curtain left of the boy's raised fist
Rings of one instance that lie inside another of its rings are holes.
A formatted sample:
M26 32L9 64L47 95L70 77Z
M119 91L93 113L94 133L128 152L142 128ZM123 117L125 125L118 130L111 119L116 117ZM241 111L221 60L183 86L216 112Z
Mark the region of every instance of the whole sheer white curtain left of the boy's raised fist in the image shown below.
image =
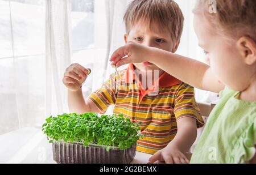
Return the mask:
M68 112L69 0L0 1L0 135Z

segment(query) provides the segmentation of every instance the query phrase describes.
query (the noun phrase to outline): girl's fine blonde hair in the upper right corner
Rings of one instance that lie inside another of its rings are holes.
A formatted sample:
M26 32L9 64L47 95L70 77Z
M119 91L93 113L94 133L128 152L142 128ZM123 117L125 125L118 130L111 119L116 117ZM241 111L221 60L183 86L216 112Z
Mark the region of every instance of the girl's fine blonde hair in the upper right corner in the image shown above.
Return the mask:
M214 3L216 11L213 9ZM214 29L222 35L235 40L242 36L249 36L256 41L255 0L197 0L193 12L203 14Z

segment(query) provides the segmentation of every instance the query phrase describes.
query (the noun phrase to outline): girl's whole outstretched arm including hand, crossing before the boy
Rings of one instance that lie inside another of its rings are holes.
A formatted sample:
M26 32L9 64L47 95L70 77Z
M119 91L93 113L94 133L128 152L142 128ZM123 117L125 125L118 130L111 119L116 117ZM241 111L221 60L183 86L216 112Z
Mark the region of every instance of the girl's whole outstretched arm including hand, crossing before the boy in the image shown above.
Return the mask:
M129 42L115 50L110 61L112 61L112 65L117 65L117 67L127 63L148 61L193 87L217 93L224 89L224 85L219 82L208 65L134 42Z

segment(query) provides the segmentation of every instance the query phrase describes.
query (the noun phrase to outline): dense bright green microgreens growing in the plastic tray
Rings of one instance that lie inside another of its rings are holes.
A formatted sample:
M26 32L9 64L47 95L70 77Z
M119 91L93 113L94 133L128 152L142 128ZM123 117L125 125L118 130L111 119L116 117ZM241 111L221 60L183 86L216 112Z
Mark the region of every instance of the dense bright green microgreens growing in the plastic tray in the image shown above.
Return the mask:
M139 139L138 123L133 123L123 115L102 115L96 113L63 114L51 116L42 125L42 131L47 135L49 142L64 140L65 142L81 142L117 146L121 150L130 148Z

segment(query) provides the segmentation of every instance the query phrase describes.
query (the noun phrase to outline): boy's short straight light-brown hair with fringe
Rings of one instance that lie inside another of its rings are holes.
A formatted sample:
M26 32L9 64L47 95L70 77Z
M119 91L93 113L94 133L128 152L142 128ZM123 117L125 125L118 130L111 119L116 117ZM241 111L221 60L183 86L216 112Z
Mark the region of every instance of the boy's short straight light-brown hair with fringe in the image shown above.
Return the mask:
M167 29L171 32L172 41L180 40L184 16L180 7L172 0L134 0L128 6L123 17L126 33L137 23L159 25L158 31Z

